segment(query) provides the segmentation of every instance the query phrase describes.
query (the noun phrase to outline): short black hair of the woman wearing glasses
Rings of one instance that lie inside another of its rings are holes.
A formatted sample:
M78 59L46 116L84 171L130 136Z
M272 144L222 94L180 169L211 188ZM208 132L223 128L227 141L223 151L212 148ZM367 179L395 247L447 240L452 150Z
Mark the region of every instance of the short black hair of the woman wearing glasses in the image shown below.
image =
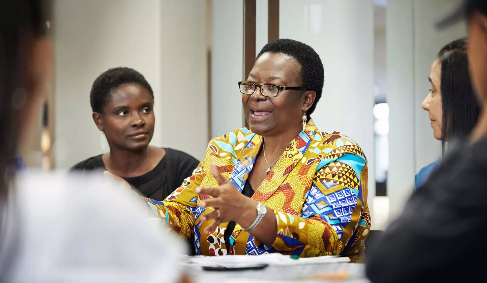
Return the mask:
M293 57L301 65L301 84L308 90L316 91L316 99L306 114L309 116L316 109L325 81L325 71L323 63L318 53L311 46L300 41L281 38L267 43L257 55L257 59L266 52L283 53Z

